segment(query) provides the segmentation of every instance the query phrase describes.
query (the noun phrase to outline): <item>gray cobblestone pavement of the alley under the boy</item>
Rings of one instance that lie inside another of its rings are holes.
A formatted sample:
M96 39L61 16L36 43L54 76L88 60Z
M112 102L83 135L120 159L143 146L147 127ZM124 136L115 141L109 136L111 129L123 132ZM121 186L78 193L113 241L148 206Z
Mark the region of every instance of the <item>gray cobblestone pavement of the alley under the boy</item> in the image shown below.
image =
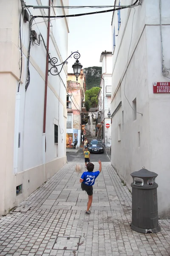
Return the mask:
M159 220L157 234L130 229L131 194L111 163L102 163L91 215L85 215L87 194L80 189L75 165L66 164L1 218L0 256L170 255L170 220Z

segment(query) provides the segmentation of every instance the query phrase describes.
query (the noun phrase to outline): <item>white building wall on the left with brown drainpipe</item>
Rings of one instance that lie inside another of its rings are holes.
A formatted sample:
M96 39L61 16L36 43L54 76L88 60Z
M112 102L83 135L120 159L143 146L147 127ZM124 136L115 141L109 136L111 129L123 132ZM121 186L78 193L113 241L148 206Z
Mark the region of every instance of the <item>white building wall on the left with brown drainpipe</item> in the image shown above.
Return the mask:
M68 57L68 19L46 16L64 15L67 9L28 9L26 5L39 6L41 1L21 2L0 2L2 215L66 163L67 70L52 76L48 61L57 57L62 63ZM52 3L45 0L43 5ZM42 17L31 22L31 15Z

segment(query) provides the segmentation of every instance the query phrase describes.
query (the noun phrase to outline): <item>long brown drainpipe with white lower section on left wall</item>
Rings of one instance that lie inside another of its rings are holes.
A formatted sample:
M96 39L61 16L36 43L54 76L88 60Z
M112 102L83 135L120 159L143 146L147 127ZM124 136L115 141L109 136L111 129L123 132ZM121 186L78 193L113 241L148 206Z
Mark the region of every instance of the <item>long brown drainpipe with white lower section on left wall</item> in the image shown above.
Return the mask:
M50 16L51 0L49 0L48 6L49 6L48 16ZM46 180L46 176L45 176L45 151L46 151L45 126L46 126L46 110L47 110L49 38L50 38L50 18L48 18L48 27L47 27L47 55L46 55L46 70L45 70L44 122L43 122L43 133L42 133L42 161L43 161L43 165L44 165L44 181Z

